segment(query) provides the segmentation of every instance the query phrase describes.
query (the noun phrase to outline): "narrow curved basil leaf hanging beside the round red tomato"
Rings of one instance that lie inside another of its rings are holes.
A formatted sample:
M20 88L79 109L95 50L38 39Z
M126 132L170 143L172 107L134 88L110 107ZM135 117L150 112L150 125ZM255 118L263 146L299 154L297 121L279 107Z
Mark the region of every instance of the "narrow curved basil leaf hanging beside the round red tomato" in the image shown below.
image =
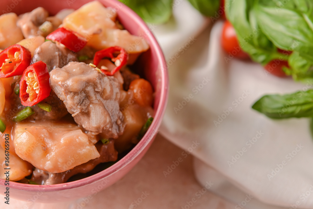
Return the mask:
M261 30L256 18L256 0L226 0L226 15L236 30L240 47L252 60L266 65L271 60L287 60Z

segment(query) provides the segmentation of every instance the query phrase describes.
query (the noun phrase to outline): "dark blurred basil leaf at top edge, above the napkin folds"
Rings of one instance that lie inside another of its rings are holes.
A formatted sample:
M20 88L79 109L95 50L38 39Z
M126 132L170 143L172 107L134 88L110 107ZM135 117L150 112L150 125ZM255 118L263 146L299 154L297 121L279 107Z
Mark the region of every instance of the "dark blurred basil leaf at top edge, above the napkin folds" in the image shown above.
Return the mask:
M213 16L220 7L220 0L188 0L194 8L205 16Z

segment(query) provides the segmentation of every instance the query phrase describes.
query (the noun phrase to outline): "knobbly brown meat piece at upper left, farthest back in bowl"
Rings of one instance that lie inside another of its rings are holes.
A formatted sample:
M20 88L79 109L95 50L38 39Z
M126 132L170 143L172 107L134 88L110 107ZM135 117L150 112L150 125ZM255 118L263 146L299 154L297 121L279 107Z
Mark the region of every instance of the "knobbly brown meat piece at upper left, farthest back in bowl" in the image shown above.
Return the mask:
M20 15L17 22L25 38L38 35L46 37L57 29L60 24L62 24L62 21L59 18L49 17L48 11L42 7Z

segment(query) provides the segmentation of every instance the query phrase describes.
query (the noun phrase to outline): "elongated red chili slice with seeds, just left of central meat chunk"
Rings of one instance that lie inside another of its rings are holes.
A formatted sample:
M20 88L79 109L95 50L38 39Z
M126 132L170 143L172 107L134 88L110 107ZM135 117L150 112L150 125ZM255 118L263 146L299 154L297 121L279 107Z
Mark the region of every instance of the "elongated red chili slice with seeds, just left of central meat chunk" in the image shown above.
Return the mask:
M23 106L33 106L49 97L51 87L46 63L39 61L30 65L20 81L20 99Z

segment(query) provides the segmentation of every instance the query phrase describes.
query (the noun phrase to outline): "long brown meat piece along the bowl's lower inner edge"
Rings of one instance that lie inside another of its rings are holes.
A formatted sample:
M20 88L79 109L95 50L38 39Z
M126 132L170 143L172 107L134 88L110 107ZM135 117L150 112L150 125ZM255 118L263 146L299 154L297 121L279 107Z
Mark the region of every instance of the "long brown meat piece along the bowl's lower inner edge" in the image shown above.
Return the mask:
M96 144L97 150L100 154L99 158L93 159L82 165L76 166L71 170L62 173L50 173L36 168L33 171L32 181L39 185L53 185L65 183L70 177L78 173L87 173L95 168L96 165L105 162L112 162L117 160L117 151L114 149L114 141L111 140L109 144Z

